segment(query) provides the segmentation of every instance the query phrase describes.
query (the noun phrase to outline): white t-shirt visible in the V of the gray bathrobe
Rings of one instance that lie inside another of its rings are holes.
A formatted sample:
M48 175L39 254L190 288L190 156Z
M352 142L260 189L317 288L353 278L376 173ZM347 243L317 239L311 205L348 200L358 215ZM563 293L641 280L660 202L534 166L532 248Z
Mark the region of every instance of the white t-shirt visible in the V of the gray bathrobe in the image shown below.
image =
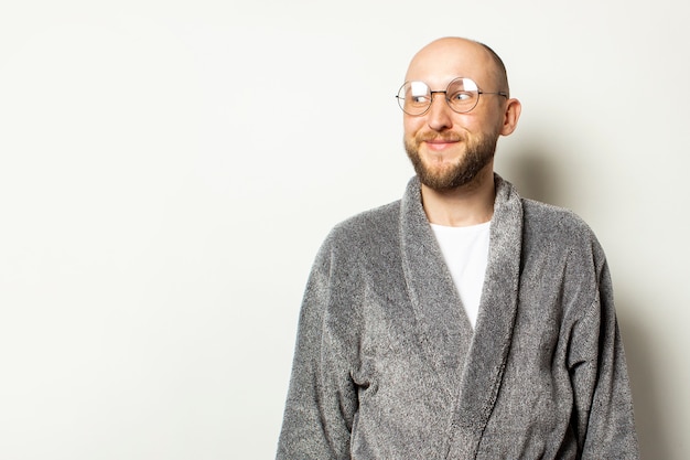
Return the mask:
M441 246L470 323L474 328L488 261L490 222L467 227L431 224L431 228Z

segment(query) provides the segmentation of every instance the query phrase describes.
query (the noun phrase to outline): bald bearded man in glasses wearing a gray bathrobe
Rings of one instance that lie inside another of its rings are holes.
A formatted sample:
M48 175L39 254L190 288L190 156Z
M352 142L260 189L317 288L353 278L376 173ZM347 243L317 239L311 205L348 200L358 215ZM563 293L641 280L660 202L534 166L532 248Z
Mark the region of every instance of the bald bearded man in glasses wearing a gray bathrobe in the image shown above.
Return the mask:
M406 82L417 175L317 255L278 458L638 458L602 248L493 171L520 115L500 58L441 39Z

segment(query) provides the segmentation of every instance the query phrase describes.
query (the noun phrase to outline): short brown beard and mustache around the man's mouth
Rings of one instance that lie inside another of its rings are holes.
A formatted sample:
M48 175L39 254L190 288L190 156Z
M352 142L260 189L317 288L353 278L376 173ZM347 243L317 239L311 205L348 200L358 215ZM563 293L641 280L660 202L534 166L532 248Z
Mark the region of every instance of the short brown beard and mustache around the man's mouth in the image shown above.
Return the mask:
M496 152L498 135L483 133L475 141L466 141L465 152L455 163L432 169L424 163L419 154L421 142L442 138L445 140L461 140L459 136L418 136L405 138L405 150L414 167L419 181L436 191L448 191L471 183L493 159Z

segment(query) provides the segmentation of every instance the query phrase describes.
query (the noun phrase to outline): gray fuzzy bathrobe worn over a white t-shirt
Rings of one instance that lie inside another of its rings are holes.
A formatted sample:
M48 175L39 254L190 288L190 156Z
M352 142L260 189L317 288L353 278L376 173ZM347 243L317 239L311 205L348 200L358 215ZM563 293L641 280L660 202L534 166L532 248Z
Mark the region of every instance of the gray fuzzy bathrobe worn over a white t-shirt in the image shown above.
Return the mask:
M416 178L336 226L304 295L277 458L638 458L592 231L496 175L473 330Z

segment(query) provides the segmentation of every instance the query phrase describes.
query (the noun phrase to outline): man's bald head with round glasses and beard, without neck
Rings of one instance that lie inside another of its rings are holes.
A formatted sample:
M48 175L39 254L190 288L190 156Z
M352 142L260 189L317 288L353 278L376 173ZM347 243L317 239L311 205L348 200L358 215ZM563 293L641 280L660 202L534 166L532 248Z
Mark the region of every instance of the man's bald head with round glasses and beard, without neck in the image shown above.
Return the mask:
M467 78L460 89L459 77ZM498 55L470 40L440 39L414 55L406 82L431 97L425 111L408 110L421 115L403 115L405 147L422 184L445 191L490 176L498 137L511 133L520 115ZM416 101L428 100L418 94Z

